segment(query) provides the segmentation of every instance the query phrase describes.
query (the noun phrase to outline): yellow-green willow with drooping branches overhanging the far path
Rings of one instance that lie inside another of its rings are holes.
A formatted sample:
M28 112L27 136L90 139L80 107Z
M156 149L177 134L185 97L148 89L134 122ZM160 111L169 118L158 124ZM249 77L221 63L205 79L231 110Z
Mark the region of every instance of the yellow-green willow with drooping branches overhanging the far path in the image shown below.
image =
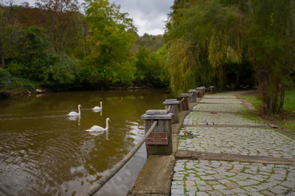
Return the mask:
M171 89L183 92L200 84L223 89L227 66L242 62L244 17L236 7L224 7L219 0L190 4L190 8L174 10L167 23Z

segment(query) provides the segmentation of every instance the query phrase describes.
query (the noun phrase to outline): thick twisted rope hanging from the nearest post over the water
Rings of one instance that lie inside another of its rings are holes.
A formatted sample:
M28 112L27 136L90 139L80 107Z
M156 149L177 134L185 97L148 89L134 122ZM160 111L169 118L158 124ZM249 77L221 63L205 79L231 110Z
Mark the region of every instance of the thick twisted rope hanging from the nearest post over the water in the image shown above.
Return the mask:
M137 152L137 150L144 144L148 139L149 134L153 131L158 121L155 121L149 128L147 134L141 139L141 141L117 164L111 169L107 174L102 176L94 185L89 187L88 191L84 192L81 196L93 196L98 192L103 185L105 185Z

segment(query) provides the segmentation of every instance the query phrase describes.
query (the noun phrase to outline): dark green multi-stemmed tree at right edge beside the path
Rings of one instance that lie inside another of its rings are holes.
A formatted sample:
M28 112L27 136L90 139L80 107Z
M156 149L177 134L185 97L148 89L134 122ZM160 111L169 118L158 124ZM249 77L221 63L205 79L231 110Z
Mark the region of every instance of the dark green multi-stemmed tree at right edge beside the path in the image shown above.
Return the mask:
M290 72L295 69L294 0L248 3L248 54L266 114L282 110Z

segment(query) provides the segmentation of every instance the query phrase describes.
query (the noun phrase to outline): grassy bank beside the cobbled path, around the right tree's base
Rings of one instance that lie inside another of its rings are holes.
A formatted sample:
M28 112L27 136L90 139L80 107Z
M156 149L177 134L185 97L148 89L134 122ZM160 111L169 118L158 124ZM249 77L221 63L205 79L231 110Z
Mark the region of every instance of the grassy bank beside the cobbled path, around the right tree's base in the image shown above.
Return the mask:
M259 115L261 118L276 122L281 126L288 128L291 131L295 132L295 88L289 89L286 92L285 102L284 102L284 110L281 114L274 115L263 115L261 111L261 94L260 93L249 93L242 94L242 98L252 103L252 105L259 111L256 115ZM255 114L252 114L255 115Z

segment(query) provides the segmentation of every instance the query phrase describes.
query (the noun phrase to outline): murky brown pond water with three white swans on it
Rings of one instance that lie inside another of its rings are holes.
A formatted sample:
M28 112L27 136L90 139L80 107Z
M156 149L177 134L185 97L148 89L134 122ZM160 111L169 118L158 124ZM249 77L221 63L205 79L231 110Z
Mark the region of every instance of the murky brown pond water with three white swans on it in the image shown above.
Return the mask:
M84 91L0 99L0 195L80 195L144 135L140 116L164 109L164 90ZM90 108L100 106L102 114ZM66 114L78 111L81 119ZM93 125L108 134L89 133ZM97 196L125 196L146 163L143 145Z

